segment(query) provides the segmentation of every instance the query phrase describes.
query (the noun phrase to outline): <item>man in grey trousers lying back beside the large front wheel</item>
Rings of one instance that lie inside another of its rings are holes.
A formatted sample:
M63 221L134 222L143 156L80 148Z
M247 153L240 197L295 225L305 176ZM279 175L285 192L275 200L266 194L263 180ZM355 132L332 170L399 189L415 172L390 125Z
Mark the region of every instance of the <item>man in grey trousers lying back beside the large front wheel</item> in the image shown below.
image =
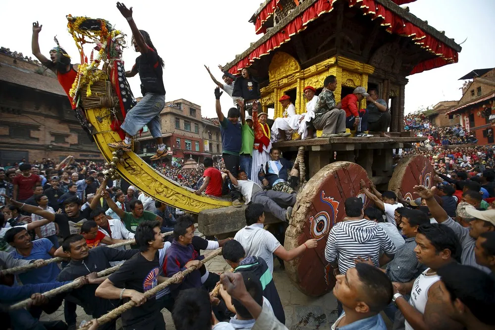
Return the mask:
M241 191L246 204L249 202L263 204L265 212L270 212L282 221L290 220L292 207L296 204L295 193L263 190L258 184L247 179L247 174L243 170L238 172L237 178L228 170L224 173L227 173L234 187Z

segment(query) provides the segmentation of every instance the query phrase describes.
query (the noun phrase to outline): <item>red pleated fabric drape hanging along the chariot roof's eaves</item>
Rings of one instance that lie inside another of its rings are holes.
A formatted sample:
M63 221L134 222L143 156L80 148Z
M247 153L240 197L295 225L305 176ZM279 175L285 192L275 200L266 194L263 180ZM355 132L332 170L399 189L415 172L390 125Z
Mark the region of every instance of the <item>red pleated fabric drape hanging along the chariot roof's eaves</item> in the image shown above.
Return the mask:
M230 68L229 72L232 74L238 74L242 68L249 66L255 59L268 54L271 50L280 47L282 44L289 41L291 36L304 30L309 22L317 19L322 14L332 11L333 3L335 1L336 0L319 0L313 3L293 21L288 23L282 30L270 37L265 43L251 51L245 58L237 62L232 68ZM438 68L449 63L456 63L458 61L457 51L435 39L433 36L425 33L409 21L394 14L380 3L375 2L374 0L347 1L349 2L349 6L358 6L363 11L364 15L370 15L372 20L380 19L380 24L385 27L387 32L411 38L416 45L437 56L436 58L419 63L412 69L410 74L431 70L433 68Z

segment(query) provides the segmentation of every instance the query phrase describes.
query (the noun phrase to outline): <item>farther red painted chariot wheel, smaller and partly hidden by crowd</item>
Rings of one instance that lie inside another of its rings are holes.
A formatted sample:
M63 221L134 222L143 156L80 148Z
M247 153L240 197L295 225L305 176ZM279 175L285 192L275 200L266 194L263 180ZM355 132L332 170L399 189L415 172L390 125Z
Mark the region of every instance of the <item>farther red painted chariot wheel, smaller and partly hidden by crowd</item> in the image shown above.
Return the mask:
M421 155L407 156L397 164L389 181L389 190L402 193L404 199L413 200L414 186L431 188L434 185L435 170L428 158Z

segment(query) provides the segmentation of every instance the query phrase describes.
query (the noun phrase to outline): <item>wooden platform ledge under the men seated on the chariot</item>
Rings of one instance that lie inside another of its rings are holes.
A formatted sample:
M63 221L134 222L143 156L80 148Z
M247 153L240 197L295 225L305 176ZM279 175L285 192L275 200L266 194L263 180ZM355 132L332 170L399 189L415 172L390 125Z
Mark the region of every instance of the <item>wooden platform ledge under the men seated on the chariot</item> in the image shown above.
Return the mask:
M359 149L397 149L411 147L412 143L425 141L425 138L417 137L392 137L392 138L316 138L308 140L290 140L273 143L274 147L282 151L296 151L304 146L307 151L345 151Z

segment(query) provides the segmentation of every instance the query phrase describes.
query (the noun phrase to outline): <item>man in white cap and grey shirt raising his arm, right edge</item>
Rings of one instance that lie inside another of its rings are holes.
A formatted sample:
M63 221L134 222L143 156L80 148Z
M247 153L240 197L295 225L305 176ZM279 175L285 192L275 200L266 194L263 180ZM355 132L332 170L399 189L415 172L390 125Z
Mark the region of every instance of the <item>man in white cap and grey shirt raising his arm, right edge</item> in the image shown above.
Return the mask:
M428 189L424 186L415 186L414 189L421 198L426 200L426 205L428 205L435 220L439 224L450 227L459 238L462 245L461 264L476 267L490 274L491 271L489 268L481 266L476 262L474 247L476 239L481 234L495 231L495 210L478 211L476 209L466 208L466 213L472 216L474 220L469 222L469 228L462 227L447 215L447 212L435 199L436 187Z

